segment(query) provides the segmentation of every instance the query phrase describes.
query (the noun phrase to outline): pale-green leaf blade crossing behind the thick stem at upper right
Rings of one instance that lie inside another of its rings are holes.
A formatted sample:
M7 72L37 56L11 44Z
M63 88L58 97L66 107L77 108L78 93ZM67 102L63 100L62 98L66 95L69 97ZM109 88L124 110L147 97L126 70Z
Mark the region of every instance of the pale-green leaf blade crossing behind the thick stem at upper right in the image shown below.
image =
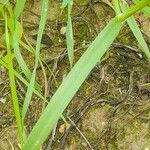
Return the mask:
M122 10L125 12L126 10L128 10L128 5L127 3L124 2L124 4L121 4ZM145 55L147 56L148 60L150 60L150 51L149 48L147 46L147 43L144 40L144 37L138 27L138 24L136 23L136 20L134 19L133 16L129 17L127 19L127 23L130 27L130 29L132 30L134 36L136 37L137 41L139 42L142 51L145 53Z

